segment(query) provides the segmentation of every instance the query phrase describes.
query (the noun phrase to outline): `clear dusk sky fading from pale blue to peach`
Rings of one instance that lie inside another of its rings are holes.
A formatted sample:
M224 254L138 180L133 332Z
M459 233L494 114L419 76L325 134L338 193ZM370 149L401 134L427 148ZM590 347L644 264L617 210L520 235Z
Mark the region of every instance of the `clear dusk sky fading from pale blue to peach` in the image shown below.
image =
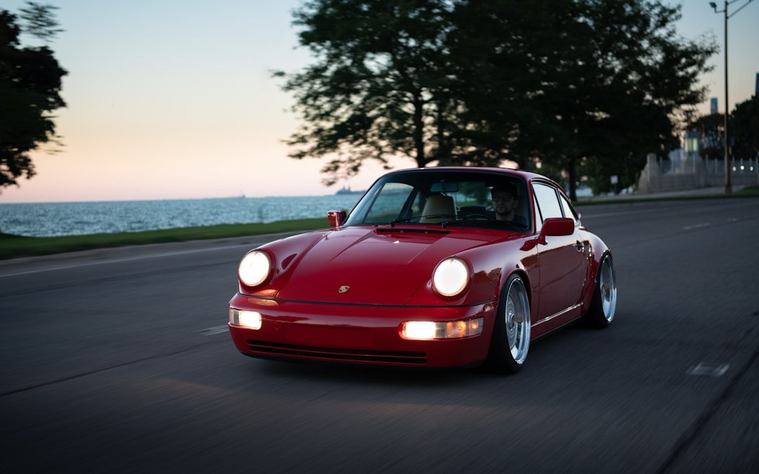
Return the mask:
M735 0L732 13L748 0ZM300 124L294 99L271 71L314 59L298 47L291 12L301 0L39 0L65 30L50 47L68 75L55 112L62 146L33 152L36 175L0 190L0 203L233 196L323 196L366 189L378 165L333 187L324 161L288 158L282 143ZM679 36L712 36L720 52L701 83L724 111L724 14L704 0L682 5ZM723 0L717 0L720 10ZM2 0L18 14L23 0ZM729 19L729 102L754 95L759 2ZM22 37L24 46L39 42ZM709 103L699 107L709 113ZM414 165L410 159L395 168Z

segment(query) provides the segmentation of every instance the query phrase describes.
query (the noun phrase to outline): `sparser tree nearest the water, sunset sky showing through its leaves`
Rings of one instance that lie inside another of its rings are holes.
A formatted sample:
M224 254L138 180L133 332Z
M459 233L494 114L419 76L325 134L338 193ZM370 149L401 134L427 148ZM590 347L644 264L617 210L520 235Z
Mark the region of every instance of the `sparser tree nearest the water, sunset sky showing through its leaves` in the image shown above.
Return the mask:
M319 59L297 74L282 71L304 124L291 157L333 156L326 184L358 172L366 159L387 165L404 155L424 167L444 155L447 111L455 107L442 42L444 0L320 0L294 14L301 46Z

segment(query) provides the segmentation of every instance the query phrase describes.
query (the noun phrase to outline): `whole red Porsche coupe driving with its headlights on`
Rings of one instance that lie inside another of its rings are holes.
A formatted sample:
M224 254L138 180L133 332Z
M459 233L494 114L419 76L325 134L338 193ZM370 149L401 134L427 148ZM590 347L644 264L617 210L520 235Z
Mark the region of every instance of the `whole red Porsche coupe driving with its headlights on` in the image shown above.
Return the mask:
M609 248L539 174L393 171L328 220L241 260L229 302L241 353L509 373L534 338L614 318Z

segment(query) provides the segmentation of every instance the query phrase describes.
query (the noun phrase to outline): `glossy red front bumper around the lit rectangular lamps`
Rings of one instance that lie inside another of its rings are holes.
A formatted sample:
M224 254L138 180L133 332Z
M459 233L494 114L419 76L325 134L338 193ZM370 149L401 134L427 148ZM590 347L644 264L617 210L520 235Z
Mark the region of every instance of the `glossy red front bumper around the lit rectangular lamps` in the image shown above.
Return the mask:
M498 302L474 306L340 305L235 295L230 309L257 311L260 329L229 323L235 347L264 359L406 367L457 367L481 363L490 347ZM400 335L406 321L483 318L473 337L414 341Z

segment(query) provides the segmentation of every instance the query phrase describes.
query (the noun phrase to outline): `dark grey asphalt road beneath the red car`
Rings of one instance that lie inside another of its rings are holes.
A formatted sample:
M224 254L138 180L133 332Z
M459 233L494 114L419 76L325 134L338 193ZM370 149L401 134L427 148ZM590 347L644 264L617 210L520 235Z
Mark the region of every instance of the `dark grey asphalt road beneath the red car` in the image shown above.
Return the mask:
M2 472L759 472L759 200L586 206L619 305L524 370L241 356L259 239L0 263Z

